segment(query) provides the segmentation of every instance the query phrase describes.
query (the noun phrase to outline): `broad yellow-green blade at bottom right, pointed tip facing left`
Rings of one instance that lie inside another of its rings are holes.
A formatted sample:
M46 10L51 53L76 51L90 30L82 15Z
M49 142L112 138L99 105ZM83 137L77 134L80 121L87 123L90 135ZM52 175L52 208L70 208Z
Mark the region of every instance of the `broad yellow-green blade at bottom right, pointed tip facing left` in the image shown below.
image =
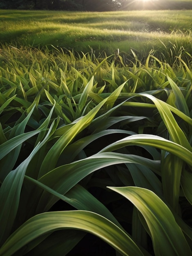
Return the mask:
M156 256L192 255L172 212L155 193L139 187L109 187L109 189L130 200L142 213L150 230Z

